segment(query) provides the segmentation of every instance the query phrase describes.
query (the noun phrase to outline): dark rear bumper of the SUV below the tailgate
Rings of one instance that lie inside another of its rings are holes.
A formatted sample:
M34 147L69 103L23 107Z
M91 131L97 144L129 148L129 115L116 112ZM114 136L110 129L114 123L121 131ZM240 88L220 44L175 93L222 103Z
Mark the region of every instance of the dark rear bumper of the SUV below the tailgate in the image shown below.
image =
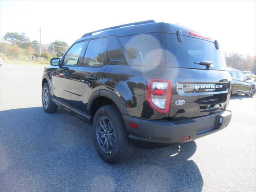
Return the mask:
M188 142L222 130L228 126L231 116L231 111L223 110L208 116L176 121L148 120L127 115L123 115L123 118L131 140L171 144ZM130 128L129 122L137 124L138 128ZM185 136L190 138L182 140Z

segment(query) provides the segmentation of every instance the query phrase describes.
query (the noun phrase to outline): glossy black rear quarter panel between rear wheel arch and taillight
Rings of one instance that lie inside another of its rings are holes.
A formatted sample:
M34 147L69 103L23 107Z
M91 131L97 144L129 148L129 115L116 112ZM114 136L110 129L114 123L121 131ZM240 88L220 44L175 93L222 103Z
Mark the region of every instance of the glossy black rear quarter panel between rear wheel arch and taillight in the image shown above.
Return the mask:
M130 116L162 119L168 114L154 111L145 101L145 86L148 78L169 79L166 67L108 65L102 80L101 90L116 94Z

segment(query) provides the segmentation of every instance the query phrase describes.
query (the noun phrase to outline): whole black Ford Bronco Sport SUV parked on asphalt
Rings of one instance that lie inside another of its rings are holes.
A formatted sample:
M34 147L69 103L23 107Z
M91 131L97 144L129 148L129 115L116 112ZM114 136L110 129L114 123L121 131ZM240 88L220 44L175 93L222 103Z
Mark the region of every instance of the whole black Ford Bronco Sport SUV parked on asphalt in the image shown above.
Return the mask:
M84 34L44 68L42 104L92 125L100 157L132 144L192 141L225 128L231 76L216 40L153 20Z

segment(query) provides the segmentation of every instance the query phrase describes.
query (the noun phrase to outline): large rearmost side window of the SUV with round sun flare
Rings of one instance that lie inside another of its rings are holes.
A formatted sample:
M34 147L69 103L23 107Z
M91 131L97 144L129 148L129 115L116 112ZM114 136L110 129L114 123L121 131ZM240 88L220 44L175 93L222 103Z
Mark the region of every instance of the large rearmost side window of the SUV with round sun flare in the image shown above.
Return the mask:
M134 65L165 66L164 33L149 33L119 38Z

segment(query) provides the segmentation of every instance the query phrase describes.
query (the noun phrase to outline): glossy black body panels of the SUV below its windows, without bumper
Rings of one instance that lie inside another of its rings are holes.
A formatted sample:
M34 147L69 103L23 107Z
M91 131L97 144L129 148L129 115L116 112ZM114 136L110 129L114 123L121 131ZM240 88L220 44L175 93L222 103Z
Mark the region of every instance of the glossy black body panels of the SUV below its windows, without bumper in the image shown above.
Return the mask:
M67 71L69 77L59 77L59 73ZM87 108L90 96L98 90L108 90L116 95L130 116L149 119L176 119L191 118L208 115L226 107L230 76L226 71L198 70L184 68L167 68L152 66L117 66L106 65L102 68L87 68L82 66L70 67L62 70L57 67L47 66L45 74L48 74L52 95L71 104L88 114ZM88 80L86 76L95 75L97 80ZM154 111L145 102L145 85L148 78L170 79L172 81L172 100L169 114L160 114ZM206 92L178 93L177 84L224 84L225 93L219 94ZM186 96L186 94L192 94ZM100 94L98 94L100 96ZM215 110L200 111L200 101L218 98L217 104L222 107ZM185 100L182 106L177 106L177 100Z

